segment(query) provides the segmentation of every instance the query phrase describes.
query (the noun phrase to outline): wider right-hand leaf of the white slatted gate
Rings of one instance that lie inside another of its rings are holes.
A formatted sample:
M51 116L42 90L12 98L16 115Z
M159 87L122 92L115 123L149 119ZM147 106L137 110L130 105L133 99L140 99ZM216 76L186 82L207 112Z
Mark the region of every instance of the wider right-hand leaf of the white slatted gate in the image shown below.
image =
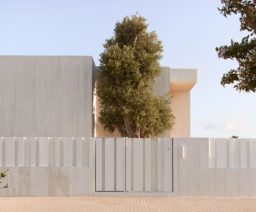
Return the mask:
M172 138L126 138L126 191L172 192Z

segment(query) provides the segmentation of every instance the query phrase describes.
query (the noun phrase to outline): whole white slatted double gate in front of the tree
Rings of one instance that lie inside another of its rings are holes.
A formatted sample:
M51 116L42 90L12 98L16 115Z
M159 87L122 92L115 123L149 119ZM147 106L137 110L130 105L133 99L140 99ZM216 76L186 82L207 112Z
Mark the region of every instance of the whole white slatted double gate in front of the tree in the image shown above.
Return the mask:
M172 138L96 138L96 191L172 192Z

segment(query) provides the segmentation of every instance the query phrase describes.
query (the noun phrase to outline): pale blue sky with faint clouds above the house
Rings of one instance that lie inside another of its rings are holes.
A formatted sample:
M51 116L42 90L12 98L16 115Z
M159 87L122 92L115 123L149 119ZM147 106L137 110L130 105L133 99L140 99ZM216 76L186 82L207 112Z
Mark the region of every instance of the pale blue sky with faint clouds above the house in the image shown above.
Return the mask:
M197 69L191 90L191 137L256 138L256 93L220 85L237 62L215 48L241 41L239 15L225 18L220 0L0 0L0 55L92 56L116 21L138 11L163 41L161 66Z

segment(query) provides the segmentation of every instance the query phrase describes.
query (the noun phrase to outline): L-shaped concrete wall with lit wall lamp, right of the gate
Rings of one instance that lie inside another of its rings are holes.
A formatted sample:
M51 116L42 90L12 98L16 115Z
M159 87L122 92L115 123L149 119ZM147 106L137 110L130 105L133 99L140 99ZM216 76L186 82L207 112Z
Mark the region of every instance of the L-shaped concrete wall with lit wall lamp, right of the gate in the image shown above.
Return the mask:
M209 138L173 138L174 196L256 196L255 182L256 168L209 168Z

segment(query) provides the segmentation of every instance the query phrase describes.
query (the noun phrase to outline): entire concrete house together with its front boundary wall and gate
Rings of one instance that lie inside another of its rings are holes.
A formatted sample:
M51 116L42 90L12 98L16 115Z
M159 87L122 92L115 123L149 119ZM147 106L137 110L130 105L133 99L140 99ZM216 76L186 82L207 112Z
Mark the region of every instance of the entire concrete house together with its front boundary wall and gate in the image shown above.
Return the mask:
M91 56L0 56L1 197L256 196L255 138L177 138L190 137L196 69L164 67L153 85L174 96L166 138L105 132L96 71Z

